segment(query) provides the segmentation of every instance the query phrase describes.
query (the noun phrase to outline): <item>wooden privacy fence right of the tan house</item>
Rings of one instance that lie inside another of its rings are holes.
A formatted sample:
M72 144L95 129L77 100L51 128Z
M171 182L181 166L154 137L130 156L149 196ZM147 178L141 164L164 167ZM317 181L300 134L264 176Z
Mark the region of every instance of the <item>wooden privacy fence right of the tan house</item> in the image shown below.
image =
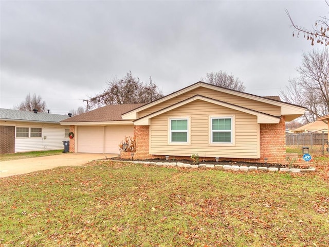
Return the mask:
M286 146L294 149L308 147L309 151L322 154L328 153L328 133L309 132L309 133L286 133Z

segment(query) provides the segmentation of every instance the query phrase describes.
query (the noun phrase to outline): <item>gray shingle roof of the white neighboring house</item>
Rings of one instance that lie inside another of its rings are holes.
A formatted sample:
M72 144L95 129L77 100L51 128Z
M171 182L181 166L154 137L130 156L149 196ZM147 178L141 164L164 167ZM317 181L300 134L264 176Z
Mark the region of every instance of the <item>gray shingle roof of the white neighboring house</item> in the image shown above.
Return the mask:
M28 111L11 110L0 108L0 120L10 121L33 121L33 122L60 122L69 116L50 114L50 113L34 113Z

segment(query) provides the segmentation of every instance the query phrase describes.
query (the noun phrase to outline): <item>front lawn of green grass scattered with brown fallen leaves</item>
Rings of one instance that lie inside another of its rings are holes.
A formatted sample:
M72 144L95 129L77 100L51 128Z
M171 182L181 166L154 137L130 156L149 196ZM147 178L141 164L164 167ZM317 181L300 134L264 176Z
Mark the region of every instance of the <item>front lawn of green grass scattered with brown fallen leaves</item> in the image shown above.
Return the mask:
M323 173L98 161L0 180L0 246L328 246Z

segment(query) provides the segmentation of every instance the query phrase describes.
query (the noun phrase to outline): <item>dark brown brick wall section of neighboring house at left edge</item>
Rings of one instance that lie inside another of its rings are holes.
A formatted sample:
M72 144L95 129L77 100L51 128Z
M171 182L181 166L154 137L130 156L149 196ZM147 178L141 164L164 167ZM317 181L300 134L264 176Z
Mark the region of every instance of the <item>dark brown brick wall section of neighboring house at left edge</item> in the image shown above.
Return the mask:
M0 153L15 152L15 126L0 126Z

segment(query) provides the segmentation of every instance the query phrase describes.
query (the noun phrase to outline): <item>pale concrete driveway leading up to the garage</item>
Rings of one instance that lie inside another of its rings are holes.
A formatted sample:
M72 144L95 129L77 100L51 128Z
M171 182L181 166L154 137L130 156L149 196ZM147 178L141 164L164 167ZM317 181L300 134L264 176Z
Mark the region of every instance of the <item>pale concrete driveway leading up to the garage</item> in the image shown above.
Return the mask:
M59 166L81 166L90 161L105 159L105 156L111 158L117 156L117 154L63 153L44 157L24 158L21 160L1 161L0 178Z

